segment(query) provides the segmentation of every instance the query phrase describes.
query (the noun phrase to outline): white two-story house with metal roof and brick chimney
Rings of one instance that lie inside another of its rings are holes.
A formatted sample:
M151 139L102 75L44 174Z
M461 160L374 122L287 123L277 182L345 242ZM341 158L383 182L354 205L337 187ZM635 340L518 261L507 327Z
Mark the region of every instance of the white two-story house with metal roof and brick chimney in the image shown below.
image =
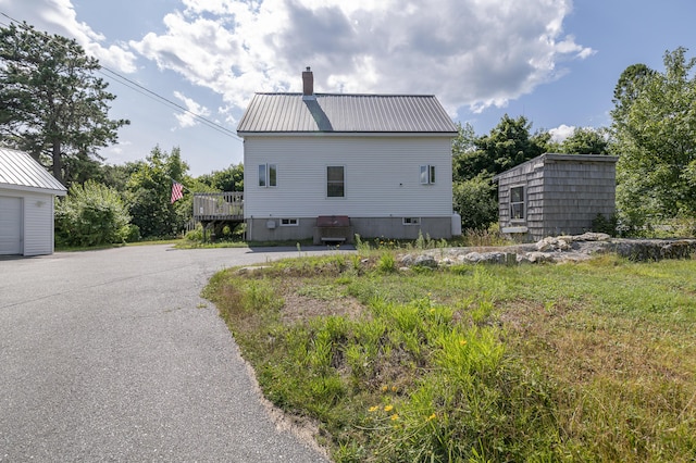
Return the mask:
M318 217L336 216L348 241L457 233L457 128L434 96L314 93L309 67L302 79L302 93L256 93L237 127L248 240L316 242Z

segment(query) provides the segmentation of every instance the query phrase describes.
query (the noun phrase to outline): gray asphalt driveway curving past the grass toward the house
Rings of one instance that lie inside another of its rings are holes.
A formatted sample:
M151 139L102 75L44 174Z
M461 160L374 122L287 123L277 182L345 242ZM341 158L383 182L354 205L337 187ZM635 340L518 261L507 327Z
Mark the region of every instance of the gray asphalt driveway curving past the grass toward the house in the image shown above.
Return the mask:
M314 252L327 251L302 250ZM325 461L273 423L199 297L219 270L293 255L147 246L0 260L0 461Z

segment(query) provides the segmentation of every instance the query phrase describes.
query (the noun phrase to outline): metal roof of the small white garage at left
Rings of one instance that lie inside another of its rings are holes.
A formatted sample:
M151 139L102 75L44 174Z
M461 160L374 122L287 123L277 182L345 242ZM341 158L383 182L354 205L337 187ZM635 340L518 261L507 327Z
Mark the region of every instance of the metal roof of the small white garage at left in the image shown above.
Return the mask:
M66 191L66 188L28 153L2 147L0 147L0 188L61 196Z

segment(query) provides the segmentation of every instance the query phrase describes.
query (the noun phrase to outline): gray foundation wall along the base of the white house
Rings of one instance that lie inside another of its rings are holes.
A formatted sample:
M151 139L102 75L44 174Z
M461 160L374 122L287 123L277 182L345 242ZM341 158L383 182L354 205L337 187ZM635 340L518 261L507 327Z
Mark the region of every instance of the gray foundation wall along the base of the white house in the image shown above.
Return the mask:
M419 230L433 239L452 237L452 218L422 217L420 225L405 225L402 217L350 217L350 239L358 234L361 238L417 239ZM297 225L281 226L281 220L247 218L247 240L249 241L288 241L314 239L316 217L299 217Z

